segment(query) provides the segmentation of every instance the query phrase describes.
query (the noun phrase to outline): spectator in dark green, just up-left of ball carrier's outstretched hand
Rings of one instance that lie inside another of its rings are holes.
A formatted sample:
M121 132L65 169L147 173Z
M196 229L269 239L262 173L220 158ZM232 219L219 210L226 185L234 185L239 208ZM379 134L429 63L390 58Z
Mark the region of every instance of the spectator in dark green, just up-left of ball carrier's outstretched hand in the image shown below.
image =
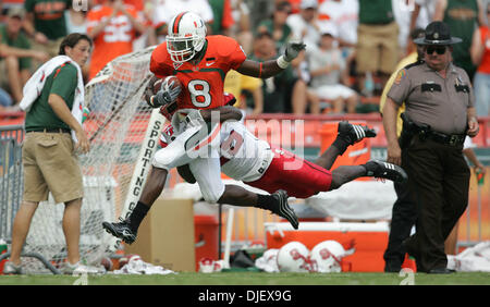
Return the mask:
M257 26L256 32L268 32L272 34L278 50L290 39L291 27L286 24L287 16L291 13L291 4L287 1L275 4L274 12L270 19L267 19Z

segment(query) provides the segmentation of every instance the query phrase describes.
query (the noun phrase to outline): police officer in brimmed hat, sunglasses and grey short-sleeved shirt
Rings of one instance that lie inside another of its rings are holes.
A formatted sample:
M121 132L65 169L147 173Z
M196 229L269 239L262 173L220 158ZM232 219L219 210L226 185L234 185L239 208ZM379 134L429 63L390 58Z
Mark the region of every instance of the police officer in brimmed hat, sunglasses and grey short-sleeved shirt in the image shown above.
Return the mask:
M463 157L465 136L478 134L475 97L466 72L451 62L451 37L443 22L432 22L415 39L425 61L401 70L388 93L383 125L388 161L408 174L416 206L416 233L404 246L417 271L449 273L444 241L466 209L469 169ZM402 135L396 136L396 114L405 101Z

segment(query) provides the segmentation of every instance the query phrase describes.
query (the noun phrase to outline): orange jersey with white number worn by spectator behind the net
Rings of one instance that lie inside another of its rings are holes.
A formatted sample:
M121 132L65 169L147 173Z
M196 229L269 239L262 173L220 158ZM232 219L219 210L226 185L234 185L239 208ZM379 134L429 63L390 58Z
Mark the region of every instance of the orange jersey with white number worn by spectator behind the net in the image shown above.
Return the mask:
M132 5L125 5L125 9L133 17L138 19L137 11ZM87 32L89 33L111 14L111 7L98 5L91 9L87 14ZM94 39L89 78L95 77L113 59L132 52L133 40L135 38L136 30L130 20L123 13L119 12Z

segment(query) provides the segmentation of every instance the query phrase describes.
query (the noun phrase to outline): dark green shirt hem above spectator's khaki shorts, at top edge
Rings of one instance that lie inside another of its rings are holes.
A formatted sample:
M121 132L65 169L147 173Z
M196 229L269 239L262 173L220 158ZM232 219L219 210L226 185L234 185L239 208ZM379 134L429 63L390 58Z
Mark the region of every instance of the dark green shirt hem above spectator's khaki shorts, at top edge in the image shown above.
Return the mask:
M359 24L389 24L393 21L391 0L359 0Z

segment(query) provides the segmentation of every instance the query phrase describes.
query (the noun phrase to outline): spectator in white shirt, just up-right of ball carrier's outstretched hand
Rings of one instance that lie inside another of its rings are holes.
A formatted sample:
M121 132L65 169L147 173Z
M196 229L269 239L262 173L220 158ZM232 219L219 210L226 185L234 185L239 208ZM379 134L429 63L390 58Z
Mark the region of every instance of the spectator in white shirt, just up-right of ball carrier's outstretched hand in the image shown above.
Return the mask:
M299 13L287 17L287 25L293 30L293 39L303 40L307 48L315 48L320 42L320 22L318 20L318 1L302 0Z

